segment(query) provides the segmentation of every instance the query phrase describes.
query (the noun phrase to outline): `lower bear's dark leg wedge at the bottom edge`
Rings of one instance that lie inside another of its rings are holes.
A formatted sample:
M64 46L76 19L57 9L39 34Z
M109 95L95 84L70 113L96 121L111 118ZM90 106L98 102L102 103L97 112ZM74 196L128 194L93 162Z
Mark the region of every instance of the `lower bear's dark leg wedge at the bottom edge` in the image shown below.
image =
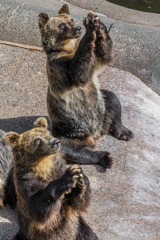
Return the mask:
M79 218L80 224L78 229L78 235L76 240L98 240L96 234L92 231L89 225L83 220L83 218Z

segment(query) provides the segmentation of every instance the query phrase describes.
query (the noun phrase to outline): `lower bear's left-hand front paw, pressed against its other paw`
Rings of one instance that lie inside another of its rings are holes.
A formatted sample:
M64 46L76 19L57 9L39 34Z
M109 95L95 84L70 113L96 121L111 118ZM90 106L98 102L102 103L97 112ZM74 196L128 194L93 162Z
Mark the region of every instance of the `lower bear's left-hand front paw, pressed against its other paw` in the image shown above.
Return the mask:
M82 169L78 165L69 167L63 175L63 181L65 184L65 193L68 194L72 191L72 188L76 187L78 179L81 178Z

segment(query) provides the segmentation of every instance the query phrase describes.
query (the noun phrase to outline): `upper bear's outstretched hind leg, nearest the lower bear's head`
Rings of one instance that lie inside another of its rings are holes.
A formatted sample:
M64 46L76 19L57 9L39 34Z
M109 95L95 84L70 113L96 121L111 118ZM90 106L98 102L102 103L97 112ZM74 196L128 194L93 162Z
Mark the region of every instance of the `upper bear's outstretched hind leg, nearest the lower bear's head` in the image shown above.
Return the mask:
M61 151L66 160L79 164L99 164L111 168L112 157L108 152L93 151L91 146L77 138L61 138Z

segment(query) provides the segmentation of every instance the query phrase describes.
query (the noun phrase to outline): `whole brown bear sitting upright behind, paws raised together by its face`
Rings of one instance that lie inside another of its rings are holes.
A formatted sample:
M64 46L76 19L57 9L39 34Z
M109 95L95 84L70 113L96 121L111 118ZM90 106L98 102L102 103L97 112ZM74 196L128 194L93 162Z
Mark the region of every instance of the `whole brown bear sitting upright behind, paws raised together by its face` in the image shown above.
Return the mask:
M121 123L121 105L113 92L102 90L97 74L112 57L106 26L89 12L86 33L63 5L59 15L38 15L42 46L47 55L47 108L51 132L62 140L66 159L110 167L108 152L93 151L95 139L110 132L122 140L133 137Z

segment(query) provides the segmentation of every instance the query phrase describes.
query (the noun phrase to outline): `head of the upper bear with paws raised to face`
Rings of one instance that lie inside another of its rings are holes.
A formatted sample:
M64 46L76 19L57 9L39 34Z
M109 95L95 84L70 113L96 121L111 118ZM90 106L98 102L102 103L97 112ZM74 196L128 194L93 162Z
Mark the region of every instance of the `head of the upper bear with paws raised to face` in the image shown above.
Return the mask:
M62 46L64 41L81 36L81 27L77 26L71 17L68 4L64 4L58 11L58 15L51 18L47 13L39 13L38 22L46 53L59 50L59 46Z

